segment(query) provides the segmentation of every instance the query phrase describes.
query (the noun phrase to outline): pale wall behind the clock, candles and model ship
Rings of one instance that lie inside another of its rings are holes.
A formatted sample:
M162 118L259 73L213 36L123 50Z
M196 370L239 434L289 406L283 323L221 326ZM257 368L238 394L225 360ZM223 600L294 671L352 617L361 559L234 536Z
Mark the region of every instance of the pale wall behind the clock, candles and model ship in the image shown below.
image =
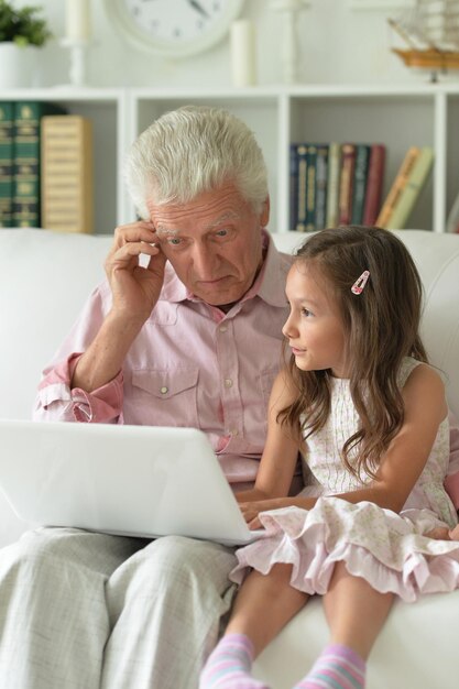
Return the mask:
M176 2L177 0L170 0ZM400 0L398 4L406 4ZM15 0L18 6L35 4ZM378 4L384 4L375 0ZM41 0L56 37L65 33L65 0ZM259 84L282 83L280 18L270 0L245 0L242 17L255 22ZM391 4L385 0L385 4ZM393 0L393 6L397 0ZM88 55L92 86L230 86L229 41L184 61L164 61L125 43L113 28L103 0L91 0L94 46ZM392 84L426 80L412 74L391 53L393 36L386 17L391 9L356 10L350 0L309 0L298 22L300 75L305 84ZM41 57L40 85L67 80L68 54L57 40Z

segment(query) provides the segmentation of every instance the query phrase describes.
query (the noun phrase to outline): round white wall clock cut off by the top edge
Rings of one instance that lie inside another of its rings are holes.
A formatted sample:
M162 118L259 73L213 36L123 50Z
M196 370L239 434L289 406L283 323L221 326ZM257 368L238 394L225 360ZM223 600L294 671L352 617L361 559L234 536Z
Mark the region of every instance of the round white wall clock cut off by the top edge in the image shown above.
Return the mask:
M228 33L244 0L105 0L106 12L136 47L164 57L186 57Z

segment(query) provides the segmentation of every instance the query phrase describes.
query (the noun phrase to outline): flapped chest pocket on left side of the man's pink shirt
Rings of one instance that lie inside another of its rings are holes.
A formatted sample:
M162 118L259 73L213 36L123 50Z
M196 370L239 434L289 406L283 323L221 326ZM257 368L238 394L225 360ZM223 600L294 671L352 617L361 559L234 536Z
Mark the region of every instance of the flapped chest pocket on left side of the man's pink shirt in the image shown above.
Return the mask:
M132 389L142 416L152 426L186 426L199 428L197 385L199 369L136 369L132 371Z

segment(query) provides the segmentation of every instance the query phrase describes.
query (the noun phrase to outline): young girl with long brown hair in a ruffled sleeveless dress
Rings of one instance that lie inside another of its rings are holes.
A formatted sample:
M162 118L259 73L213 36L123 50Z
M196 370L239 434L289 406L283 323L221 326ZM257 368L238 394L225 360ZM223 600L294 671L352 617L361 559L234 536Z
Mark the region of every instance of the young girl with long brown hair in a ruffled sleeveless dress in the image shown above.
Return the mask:
M244 581L200 689L262 689L253 657L315 593L330 645L296 688L364 687L394 597L459 587L445 387L419 338L408 251L378 228L323 230L298 251L286 295L292 356L255 486L238 496L266 536L237 553L231 578ZM314 485L289 497L298 448Z

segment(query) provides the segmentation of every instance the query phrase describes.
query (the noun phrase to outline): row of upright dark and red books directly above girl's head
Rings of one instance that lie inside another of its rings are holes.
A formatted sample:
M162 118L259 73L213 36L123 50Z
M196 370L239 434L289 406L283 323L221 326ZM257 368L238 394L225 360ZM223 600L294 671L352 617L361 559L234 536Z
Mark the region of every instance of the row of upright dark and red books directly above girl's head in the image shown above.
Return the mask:
M291 229L374 225L384 167L381 143L291 144Z

